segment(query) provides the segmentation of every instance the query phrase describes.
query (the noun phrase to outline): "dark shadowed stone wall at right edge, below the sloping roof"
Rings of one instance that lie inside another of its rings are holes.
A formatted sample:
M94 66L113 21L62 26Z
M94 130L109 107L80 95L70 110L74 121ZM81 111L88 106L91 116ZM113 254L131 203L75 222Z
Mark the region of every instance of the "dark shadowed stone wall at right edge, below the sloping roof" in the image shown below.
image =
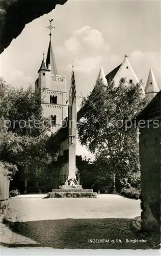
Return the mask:
M142 229L160 228L160 125L140 129Z

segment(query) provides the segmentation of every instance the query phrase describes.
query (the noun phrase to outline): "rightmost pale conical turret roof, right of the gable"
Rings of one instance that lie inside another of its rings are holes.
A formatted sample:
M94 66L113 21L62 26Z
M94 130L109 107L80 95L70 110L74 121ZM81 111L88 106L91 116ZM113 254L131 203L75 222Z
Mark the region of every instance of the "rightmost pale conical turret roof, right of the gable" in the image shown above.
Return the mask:
M159 89L157 87L152 68L150 68L146 87L145 87L145 93L158 93L158 92L159 92Z

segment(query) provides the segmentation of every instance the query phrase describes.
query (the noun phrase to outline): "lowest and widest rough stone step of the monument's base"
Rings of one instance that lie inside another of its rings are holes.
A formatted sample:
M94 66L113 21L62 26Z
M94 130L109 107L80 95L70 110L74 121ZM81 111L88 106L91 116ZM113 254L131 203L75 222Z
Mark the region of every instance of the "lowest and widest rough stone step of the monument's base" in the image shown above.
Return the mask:
M52 189L54 190L54 189ZM61 190L61 189L57 189ZM65 189L64 189L65 190ZM78 189L79 190L79 189ZM97 198L97 193L95 192L85 192L84 190L92 190L92 189L82 189L83 191L77 192L67 192L67 191L59 191L59 192L49 192L47 194L47 198L63 198L63 197L72 197L72 198Z

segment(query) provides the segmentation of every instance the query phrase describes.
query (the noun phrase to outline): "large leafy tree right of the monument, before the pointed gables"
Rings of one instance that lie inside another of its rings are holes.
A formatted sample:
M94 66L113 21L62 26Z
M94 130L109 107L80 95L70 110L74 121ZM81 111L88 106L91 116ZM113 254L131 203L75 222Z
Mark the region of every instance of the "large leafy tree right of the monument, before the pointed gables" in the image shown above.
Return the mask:
M147 104L141 83L128 84L121 79L105 86L98 79L90 96L84 98L84 117L77 124L78 137L82 145L106 163L106 172L113 177L126 176L131 170L139 170L138 129L130 120Z

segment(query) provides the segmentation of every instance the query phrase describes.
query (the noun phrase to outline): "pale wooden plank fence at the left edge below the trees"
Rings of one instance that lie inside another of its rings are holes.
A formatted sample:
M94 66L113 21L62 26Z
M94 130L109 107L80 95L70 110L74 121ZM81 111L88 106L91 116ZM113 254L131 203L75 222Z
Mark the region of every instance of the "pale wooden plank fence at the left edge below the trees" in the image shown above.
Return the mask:
M9 199L10 181L0 173L0 201Z

